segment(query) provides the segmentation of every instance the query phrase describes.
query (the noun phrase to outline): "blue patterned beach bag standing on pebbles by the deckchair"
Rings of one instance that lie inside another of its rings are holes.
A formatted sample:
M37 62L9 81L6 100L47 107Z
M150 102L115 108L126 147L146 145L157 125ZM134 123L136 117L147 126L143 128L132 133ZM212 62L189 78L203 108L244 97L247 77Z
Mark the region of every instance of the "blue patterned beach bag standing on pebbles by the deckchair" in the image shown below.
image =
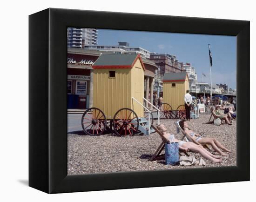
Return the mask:
M176 165L179 162L178 142L171 141L170 143L165 143L165 162L166 165Z

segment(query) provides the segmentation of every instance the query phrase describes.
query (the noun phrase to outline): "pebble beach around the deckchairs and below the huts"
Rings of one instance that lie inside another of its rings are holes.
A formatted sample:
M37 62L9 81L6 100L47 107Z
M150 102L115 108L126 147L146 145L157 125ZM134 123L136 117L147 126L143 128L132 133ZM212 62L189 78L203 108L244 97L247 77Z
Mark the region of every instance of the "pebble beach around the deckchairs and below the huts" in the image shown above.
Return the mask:
M112 134L90 136L82 131L67 134L67 173L68 175L146 171L180 168L209 168L236 166L236 121L233 125L222 124L215 126L208 124L210 113L200 114L198 119L188 121L189 128L196 133L204 133L206 137L216 138L224 147L231 150L227 156L221 156L222 162L212 163L207 159L206 166L192 165L166 165L164 159L150 161L151 156L162 142L160 135L152 133L146 135L122 136ZM155 123L157 120L154 120ZM177 120L161 119L168 133L175 134L177 139L182 138L182 133L176 133L174 122ZM213 149L211 153L218 155ZM164 150L162 151L162 154ZM195 158L201 155L188 152ZM183 154L184 155L184 154Z

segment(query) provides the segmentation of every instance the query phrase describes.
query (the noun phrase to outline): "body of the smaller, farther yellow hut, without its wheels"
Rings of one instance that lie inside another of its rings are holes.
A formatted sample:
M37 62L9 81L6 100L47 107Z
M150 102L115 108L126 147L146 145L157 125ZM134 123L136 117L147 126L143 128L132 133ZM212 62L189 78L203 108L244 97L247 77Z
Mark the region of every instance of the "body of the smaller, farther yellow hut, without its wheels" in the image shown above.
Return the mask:
M189 89L189 77L186 72L167 73L163 76L163 102L173 110L184 105L184 95Z

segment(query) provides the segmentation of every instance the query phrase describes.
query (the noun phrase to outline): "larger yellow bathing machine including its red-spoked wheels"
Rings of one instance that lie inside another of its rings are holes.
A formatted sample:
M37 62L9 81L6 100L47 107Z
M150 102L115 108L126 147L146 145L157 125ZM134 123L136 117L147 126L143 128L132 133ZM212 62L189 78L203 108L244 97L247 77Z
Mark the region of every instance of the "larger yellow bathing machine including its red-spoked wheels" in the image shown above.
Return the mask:
M101 54L93 65L93 107L82 115L88 135L134 135L144 117L144 71L139 54ZM134 100L136 102L134 102Z

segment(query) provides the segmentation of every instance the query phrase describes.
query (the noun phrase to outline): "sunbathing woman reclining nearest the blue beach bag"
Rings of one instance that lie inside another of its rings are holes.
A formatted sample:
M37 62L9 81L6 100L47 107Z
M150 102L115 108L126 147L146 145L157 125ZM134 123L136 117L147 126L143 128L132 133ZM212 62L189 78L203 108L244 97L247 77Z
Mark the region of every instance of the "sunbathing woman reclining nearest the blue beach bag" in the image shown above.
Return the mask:
M163 124L160 124L159 126L157 126L157 128L158 128L158 130L160 130L160 132L162 133L162 135L165 138L169 139L170 134L166 132L167 128ZM191 150L193 152L197 152L197 153L201 154L204 158L206 158L214 163L222 161L219 156L211 154L209 151L207 151L201 145L197 145L194 142L190 142L190 141L186 142L186 141L181 141L181 140L177 140L177 139L174 139L174 141L179 143L179 149L182 149L186 152L188 152L189 150Z

